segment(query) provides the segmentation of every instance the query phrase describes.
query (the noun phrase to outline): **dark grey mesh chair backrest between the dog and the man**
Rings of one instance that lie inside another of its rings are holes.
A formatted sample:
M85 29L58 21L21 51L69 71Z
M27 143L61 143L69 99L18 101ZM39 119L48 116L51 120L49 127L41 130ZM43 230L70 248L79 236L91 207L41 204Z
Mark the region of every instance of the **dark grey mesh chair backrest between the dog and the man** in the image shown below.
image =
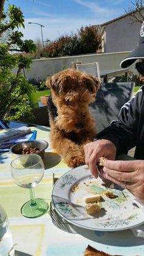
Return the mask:
M118 118L123 104L131 99L134 86L134 82L101 83L96 100L89 107L96 120L98 132Z

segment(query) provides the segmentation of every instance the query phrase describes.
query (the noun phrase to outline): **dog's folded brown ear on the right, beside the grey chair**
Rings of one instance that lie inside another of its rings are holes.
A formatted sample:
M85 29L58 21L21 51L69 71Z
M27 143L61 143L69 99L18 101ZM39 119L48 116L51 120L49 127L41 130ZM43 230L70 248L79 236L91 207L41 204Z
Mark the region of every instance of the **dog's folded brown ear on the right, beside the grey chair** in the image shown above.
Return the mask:
M91 92L92 94L93 93L96 94L96 92L100 87L100 81L98 77L88 73L82 73L81 78L82 78L82 82L85 83L88 91Z

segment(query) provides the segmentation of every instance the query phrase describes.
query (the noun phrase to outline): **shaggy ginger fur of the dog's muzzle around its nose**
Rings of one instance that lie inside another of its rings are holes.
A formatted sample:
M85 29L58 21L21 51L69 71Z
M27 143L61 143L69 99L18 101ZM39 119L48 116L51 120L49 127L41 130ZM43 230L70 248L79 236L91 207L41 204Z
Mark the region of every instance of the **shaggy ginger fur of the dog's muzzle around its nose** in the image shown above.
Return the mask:
M68 133L74 131L79 133L81 130L89 130L94 125L95 120L90 115L88 104L95 98L87 92L70 92L63 97L53 97L54 104L57 107L56 125L60 130ZM76 123L82 123L82 128L76 128Z

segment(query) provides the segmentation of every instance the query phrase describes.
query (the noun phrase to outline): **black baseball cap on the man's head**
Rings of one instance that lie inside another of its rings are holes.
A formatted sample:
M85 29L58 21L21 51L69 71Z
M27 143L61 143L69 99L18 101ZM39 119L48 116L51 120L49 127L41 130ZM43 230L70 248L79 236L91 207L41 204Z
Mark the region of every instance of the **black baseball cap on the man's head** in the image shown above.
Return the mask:
M137 59L144 58L144 21L140 29L140 38L137 48L135 48L125 59L120 63L121 68L127 68L132 65Z

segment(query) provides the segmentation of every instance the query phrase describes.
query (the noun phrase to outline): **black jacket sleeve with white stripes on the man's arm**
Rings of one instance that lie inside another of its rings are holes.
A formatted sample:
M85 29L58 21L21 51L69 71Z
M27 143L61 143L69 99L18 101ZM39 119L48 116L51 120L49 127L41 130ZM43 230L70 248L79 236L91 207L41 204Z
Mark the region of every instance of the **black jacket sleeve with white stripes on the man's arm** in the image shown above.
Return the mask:
M140 122L140 112L143 109L144 86L120 110L118 120L113 120L111 125L101 131L97 139L108 139L117 147L117 155L128 153L137 142L137 130Z

